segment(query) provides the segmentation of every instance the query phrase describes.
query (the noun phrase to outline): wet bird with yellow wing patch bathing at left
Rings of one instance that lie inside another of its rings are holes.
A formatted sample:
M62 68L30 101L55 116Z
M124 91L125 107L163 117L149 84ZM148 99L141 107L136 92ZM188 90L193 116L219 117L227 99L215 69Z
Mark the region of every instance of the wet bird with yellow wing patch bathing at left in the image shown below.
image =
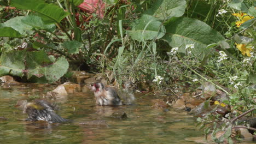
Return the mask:
M68 119L57 115L54 112L55 106L46 100L36 99L31 103L27 103L27 100L19 100L16 106L21 107L23 112L27 113L28 118L26 121L46 121L49 123L64 123L68 121Z

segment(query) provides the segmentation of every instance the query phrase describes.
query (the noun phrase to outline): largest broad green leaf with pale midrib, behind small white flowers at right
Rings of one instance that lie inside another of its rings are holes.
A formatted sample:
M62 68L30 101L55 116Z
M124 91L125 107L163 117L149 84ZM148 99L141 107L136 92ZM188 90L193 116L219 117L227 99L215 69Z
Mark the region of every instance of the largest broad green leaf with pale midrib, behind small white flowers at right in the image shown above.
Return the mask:
M209 53L207 45L218 43L225 38L217 31L208 26L205 22L179 17L168 21L166 24L166 34L162 38L171 47L179 47L178 52L186 53L185 46L194 44L191 52L195 56L203 56Z

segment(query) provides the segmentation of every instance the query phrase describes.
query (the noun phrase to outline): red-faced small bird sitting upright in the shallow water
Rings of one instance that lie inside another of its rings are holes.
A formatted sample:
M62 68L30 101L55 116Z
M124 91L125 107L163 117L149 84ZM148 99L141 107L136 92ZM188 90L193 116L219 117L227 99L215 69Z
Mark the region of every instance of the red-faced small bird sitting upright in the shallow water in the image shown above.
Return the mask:
M92 85L96 104L98 105L122 105L117 92L112 87L104 87L103 83L95 82Z

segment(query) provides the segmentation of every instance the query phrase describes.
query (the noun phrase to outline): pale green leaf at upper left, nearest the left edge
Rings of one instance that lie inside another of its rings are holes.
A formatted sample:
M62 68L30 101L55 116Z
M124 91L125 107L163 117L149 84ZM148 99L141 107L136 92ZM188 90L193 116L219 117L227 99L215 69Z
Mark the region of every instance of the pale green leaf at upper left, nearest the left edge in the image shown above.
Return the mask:
M22 35L32 34L32 27L21 22L24 16L17 16L8 21L5 21L2 25L5 27L11 27L18 31Z

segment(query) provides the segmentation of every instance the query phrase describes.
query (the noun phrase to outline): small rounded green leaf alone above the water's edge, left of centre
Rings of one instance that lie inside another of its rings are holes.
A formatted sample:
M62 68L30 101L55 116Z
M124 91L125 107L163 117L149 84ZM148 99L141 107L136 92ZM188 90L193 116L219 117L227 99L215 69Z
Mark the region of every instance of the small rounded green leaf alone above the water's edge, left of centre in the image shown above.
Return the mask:
M65 41L63 43L63 47L65 49L67 49L68 53L78 53L79 52L79 48L82 47L82 43L79 43L76 40L72 40L72 41Z

